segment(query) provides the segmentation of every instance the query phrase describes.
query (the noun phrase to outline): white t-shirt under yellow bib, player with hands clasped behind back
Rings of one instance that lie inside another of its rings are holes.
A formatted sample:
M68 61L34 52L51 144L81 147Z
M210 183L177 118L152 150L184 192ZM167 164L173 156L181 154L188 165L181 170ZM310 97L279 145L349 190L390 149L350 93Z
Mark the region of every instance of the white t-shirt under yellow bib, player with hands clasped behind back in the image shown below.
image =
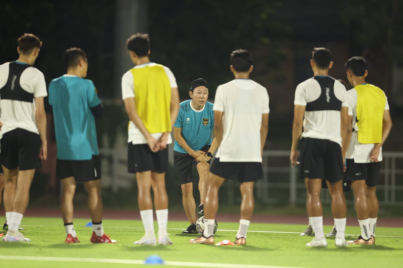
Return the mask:
M146 66L154 66L154 65L157 65L157 64L154 62L150 62L150 63L141 64L141 65L136 65L134 68L144 68ZM164 67L166 76L168 76L171 88L177 88L178 85L177 85L174 74L171 72L171 70L168 67L166 67L166 66L163 66L163 67ZM122 99L124 100L125 98L134 98L134 97L135 97L135 95L134 95L133 74L129 70L122 76ZM147 140L145 139L143 134L140 132L140 130L136 127L136 125L133 123L133 121L130 121L129 129L128 129L127 133L128 133L128 139L127 139L128 143L129 142L131 142L133 144L147 143ZM159 139L161 137L162 133L151 133L151 135L154 138ZM172 143L171 135L168 136L167 144L170 144L170 143Z

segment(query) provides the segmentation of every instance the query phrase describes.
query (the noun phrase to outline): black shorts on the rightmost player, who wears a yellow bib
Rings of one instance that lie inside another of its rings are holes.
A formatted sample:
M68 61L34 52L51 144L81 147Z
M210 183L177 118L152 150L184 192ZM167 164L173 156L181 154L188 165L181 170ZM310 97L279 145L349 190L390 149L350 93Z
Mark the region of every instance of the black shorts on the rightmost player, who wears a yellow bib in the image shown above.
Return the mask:
M380 162L355 163L354 159L346 160L347 180L365 180L370 187L378 185Z

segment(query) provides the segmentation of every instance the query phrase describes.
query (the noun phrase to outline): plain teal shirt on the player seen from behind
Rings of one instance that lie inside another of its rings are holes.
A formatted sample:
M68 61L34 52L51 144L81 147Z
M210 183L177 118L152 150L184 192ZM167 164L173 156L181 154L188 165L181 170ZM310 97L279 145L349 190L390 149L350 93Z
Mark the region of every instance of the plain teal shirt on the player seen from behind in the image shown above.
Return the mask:
M101 103L91 80L64 75L49 84L53 108L57 158L90 160L98 155L98 141L92 107Z

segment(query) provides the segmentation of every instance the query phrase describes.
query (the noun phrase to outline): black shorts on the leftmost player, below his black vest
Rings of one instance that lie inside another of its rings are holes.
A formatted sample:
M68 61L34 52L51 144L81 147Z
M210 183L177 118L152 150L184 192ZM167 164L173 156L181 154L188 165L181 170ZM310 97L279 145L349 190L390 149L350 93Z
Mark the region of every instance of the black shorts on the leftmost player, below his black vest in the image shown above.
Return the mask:
M39 160L41 139L38 134L25 129L4 133L0 141L0 161L10 170L33 170L42 167Z

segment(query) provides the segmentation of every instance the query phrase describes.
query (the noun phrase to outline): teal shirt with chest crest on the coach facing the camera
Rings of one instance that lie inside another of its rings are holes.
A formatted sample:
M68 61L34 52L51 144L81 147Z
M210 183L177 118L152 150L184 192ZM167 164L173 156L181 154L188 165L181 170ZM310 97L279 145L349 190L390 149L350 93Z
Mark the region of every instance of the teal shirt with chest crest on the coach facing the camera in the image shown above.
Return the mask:
M206 145L211 144L211 134L214 129L213 104L206 102L200 111L191 106L191 100L185 100L179 104L179 113L174 127L182 129L182 137L187 145L198 151ZM187 153L177 141L174 144L174 151Z

